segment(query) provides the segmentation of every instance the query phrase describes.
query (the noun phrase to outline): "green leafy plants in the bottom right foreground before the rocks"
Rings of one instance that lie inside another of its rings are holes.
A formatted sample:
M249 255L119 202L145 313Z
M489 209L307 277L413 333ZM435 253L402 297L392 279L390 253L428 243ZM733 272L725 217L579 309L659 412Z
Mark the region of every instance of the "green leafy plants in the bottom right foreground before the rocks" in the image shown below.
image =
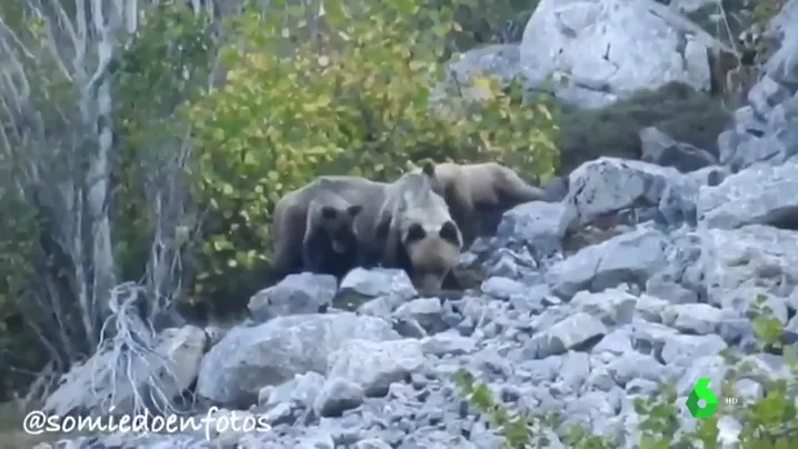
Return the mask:
M674 385L664 385L659 396L635 400L635 410L640 417L637 447L640 449L718 448L718 421L722 417L732 417L741 425L739 442L736 446L740 449L797 447L798 361L795 348L782 345L781 325L764 303L765 297L757 298L757 307L752 310L756 315L754 328L760 349L769 352L778 350L784 356L786 367L791 375L772 380L750 362L730 351L725 351L722 355L730 369L721 386L721 396L737 397L734 386L741 379L752 379L764 387L764 397L759 399L738 397L740 402L735 405L721 402L715 416L698 420L695 429L681 430L679 417L686 406L682 400L678 400ZM547 431L551 430L570 448L625 447L624 437L615 439L608 436L595 436L579 426L565 429L561 426L561 417L557 413L531 411L512 413L493 398L487 385L477 381L473 375L465 369L455 375L455 381L466 400L489 417L499 435L505 438L507 448L546 448L549 446Z

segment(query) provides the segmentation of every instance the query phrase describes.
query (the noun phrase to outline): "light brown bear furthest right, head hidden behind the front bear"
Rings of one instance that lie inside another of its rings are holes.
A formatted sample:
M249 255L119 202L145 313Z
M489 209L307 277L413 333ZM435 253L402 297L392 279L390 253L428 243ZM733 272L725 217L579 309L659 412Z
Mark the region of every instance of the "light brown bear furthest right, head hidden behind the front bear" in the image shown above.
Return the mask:
M546 198L542 189L530 186L516 171L496 162L426 162L418 171L432 179L432 188L449 206L466 246L480 233L495 233L503 211ZM485 229L480 229L481 222L487 223Z

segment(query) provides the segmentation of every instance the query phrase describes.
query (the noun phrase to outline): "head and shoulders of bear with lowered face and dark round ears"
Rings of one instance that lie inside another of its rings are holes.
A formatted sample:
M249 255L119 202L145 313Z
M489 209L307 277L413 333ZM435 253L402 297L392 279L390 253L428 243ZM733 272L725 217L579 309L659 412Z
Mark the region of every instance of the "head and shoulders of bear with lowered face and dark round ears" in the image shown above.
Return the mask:
M427 174L406 173L388 186L376 239L385 242L382 266L403 269L422 293L459 287L452 269L462 235Z

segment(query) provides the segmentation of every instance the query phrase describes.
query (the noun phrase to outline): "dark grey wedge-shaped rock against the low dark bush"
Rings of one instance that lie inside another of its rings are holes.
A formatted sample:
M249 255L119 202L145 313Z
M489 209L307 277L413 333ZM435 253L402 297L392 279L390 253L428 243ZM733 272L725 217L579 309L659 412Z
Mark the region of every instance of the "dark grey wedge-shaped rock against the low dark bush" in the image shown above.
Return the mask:
M689 143L677 142L656 127L644 128L640 131L640 144L642 161L672 167L682 173L717 163L717 159L709 151Z

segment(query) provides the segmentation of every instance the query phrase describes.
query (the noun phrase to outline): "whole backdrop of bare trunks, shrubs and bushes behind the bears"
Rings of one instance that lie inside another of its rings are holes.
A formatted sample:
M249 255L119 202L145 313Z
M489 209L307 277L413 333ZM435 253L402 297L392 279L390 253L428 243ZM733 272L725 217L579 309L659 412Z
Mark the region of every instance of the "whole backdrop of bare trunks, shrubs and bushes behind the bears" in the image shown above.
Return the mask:
M533 1L100 2L0 4L0 401L34 405L96 348L149 341L178 310L242 310L265 287L275 202L319 174L390 180L432 158L546 180L635 157L636 129L684 110L573 111L491 78L459 86L481 101L431 106L447 62L519 41ZM728 111L684 101L717 136ZM755 415L782 429L788 406L767 400Z

